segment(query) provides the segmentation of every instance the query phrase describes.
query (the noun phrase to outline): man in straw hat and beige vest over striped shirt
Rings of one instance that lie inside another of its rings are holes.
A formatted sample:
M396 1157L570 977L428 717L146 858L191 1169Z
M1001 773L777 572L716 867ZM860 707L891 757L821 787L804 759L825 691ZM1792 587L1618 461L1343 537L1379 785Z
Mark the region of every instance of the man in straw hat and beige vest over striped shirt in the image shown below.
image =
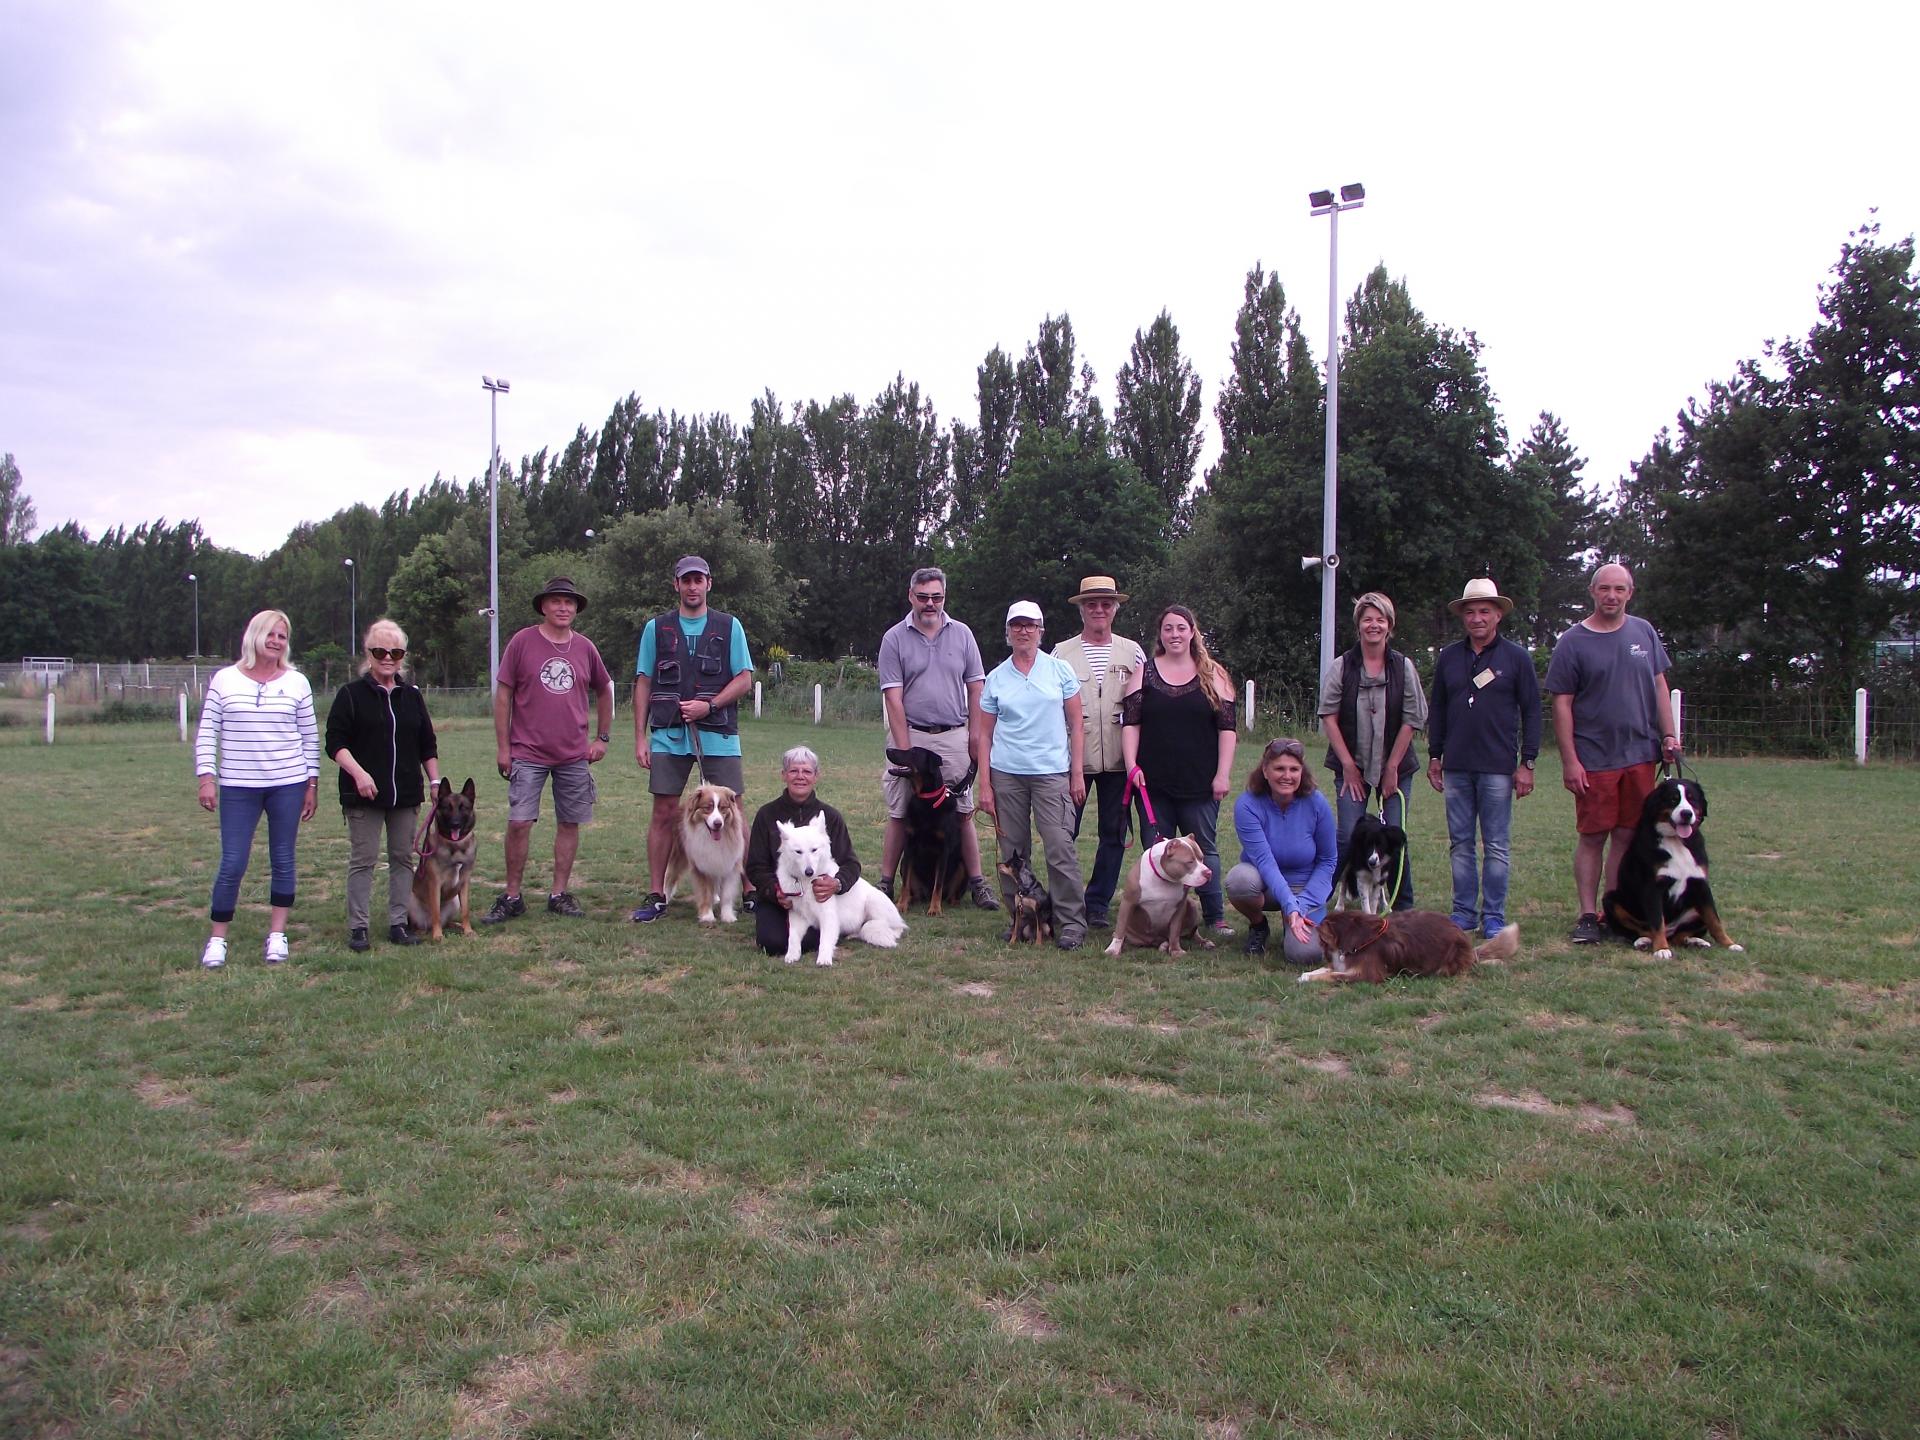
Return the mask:
M1139 641L1114 634L1114 616L1127 603L1127 593L1114 576L1087 576L1073 603L1079 605L1081 632L1054 645L1054 659L1066 660L1081 682L1083 772L1087 793L1100 797L1100 849L1092 854L1092 876L1087 881L1087 924L1106 929L1106 910L1127 858L1127 760L1119 753L1119 699L1146 662L1146 651ZM1087 803L1081 801L1073 806L1075 839L1085 814Z

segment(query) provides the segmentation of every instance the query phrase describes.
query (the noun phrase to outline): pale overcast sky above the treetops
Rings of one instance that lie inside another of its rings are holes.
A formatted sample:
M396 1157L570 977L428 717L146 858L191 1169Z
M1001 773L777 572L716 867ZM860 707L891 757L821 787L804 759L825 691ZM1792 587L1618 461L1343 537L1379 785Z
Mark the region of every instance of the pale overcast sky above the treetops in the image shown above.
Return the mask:
M1905 6L0 4L0 451L40 526L300 520L645 409L973 371L1246 271L1327 344L1327 221L1611 484L1920 228ZM1901 96L1907 100L1901 100ZM1210 420L1212 426L1212 420Z

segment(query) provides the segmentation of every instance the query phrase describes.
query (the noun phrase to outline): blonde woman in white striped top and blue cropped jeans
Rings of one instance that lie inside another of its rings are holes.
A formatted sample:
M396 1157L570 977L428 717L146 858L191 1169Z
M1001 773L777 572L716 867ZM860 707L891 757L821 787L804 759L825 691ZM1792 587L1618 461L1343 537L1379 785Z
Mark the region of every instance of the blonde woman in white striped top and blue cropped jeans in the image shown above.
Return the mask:
M286 960L286 912L294 906L294 841L313 818L321 778L321 732L313 687L286 664L292 624L280 611L261 611L240 641L240 662L215 672L200 707L194 770L200 808L221 818L221 868L213 877L213 935L200 956L207 970L227 964L227 925L240 899L240 879L253 851L253 831L267 816L273 916L261 958Z

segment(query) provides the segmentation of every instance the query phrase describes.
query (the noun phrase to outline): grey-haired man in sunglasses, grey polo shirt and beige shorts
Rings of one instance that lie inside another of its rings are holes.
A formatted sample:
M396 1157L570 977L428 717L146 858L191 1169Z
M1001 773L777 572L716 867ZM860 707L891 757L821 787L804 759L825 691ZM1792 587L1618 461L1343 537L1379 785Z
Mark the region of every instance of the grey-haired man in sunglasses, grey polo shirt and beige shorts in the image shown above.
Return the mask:
M906 618L879 641L879 699L887 710L887 745L908 751L922 745L941 756L948 780L968 772L972 722L979 712L979 691L987 684L973 632L947 614L947 572L935 566L914 570L906 588L912 603ZM879 889L893 899L893 874L906 852L906 804L912 781L887 770L887 837L881 845ZM954 795L962 816L960 856L966 860L968 893L981 910L998 910L1000 900L979 874L979 835L973 831L973 787Z

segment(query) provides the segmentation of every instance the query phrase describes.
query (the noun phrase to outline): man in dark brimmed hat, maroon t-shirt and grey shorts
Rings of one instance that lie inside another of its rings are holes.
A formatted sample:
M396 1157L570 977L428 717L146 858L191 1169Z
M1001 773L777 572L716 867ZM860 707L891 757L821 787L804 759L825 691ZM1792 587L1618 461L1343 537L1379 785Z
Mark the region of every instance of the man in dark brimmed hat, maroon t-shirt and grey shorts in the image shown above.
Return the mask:
M612 676L593 641L574 630L588 597L572 580L555 576L534 595L540 624L507 641L493 689L495 764L507 781L507 889L482 925L499 925L526 914L520 877L526 851L540 820L540 791L553 780L553 889L547 910L580 920L586 912L566 889L580 851L580 826L593 818L589 764L607 755L612 739ZM593 718L588 732L588 693Z

